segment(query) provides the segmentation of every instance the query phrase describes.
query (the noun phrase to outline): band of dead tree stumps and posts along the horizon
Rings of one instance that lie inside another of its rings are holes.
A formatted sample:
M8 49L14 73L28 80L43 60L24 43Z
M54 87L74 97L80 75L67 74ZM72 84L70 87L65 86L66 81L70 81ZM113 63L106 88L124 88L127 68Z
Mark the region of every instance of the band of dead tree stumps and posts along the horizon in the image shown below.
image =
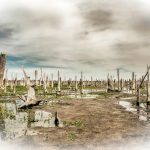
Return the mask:
M140 79L136 78L135 73L132 73L132 78L128 80L120 79L120 70L117 69L117 79L113 76L108 75L107 80L93 80L91 77L90 80L86 80L83 77L83 73L81 72L80 80L77 80L77 76L75 76L74 80L71 78L69 80L62 80L60 76L60 72L58 71L58 79L53 79L53 74L51 74L51 78L49 78L46 73L43 73L42 69L40 73L38 70L35 70L35 79L31 80L30 76L27 75L25 69L22 67L22 71L24 77L22 80L17 79L17 75L15 77L12 75L12 79L8 80L7 72L5 69L6 64L6 55L0 55L0 89L7 93L7 87L9 86L13 91L13 94L16 94L16 86L24 86L27 89L27 95L19 96L23 101L25 101L26 105L34 105L38 104L39 100L36 98L35 87L42 87L44 93L50 93L55 91L56 95L60 95L64 93L65 90L72 90L75 92L79 92L80 94L84 94L86 89L97 90L103 89L105 92L125 92L131 93L137 96L137 106L140 106L140 96L141 89L145 91L146 96L146 104L149 106L150 101L150 81L149 81L149 69L147 67L147 72ZM5 74L5 75L4 75ZM40 78L38 78L40 74Z

